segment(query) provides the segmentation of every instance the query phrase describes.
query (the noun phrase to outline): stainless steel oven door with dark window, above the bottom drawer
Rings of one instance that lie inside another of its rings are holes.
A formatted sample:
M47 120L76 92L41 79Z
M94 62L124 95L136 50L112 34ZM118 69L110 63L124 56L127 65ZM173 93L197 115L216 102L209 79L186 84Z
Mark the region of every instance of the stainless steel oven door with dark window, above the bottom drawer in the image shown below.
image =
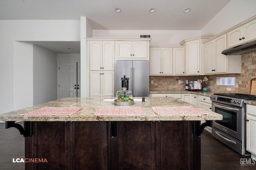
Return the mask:
M242 108L212 102L212 111L223 116L223 120L212 121L212 127L242 141Z

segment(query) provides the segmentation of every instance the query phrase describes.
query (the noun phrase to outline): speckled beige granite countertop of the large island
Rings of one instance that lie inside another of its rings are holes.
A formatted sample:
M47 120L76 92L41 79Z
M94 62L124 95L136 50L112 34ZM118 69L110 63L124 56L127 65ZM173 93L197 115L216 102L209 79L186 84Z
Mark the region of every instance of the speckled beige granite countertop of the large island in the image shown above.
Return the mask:
M112 98L114 99L114 98ZM134 101L132 106L116 106L114 101L106 102L104 98L62 98L44 104L27 107L17 111L11 111L0 115L0 121L200 121L222 120L222 115L196 107L207 115L156 115L151 107L178 107L190 106L176 98L146 97L145 102ZM34 111L42 107L80 107L83 108L71 116L21 116L20 114ZM142 107L146 115L125 116L94 116L96 109L100 107Z

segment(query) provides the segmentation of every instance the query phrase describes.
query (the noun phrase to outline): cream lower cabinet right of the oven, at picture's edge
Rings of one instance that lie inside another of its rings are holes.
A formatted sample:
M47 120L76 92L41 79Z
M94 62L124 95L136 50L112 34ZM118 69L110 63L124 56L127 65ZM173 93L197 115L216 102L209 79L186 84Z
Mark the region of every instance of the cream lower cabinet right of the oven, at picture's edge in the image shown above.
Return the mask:
M246 150L256 157L256 106L246 104Z

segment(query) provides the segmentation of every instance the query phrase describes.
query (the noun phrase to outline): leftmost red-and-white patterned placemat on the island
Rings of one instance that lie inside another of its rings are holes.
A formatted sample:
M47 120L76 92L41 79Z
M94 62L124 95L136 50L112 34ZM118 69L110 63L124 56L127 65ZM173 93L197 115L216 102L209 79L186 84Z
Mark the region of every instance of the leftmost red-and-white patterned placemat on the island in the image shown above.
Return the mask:
M70 116L82 107L42 107L40 109L21 114L22 116Z

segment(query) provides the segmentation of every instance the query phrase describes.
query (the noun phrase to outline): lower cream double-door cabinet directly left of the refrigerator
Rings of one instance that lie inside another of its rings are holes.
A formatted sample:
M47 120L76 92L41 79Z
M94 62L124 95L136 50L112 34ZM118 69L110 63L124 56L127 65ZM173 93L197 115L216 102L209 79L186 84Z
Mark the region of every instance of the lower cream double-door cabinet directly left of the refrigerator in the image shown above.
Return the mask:
M90 71L90 97L114 97L114 71Z

